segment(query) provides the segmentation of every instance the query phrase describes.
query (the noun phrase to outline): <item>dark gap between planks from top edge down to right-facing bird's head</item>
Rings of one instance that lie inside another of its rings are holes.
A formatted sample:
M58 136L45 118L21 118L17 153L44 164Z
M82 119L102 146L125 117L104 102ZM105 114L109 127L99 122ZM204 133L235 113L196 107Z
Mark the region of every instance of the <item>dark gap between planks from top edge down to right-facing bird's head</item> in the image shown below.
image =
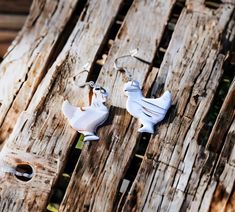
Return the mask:
M107 55L109 53L109 50L113 44L113 41L115 40L118 31L122 25L122 22L131 7L134 0L128 0L124 1L121 5L121 8L118 12L117 17L115 18L112 26L108 30L106 39L104 39L104 42L100 45L100 49L96 55L95 62L91 65L91 69L89 72L89 75L87 77L87 81L96 81L98 79L99 73L106 61Z

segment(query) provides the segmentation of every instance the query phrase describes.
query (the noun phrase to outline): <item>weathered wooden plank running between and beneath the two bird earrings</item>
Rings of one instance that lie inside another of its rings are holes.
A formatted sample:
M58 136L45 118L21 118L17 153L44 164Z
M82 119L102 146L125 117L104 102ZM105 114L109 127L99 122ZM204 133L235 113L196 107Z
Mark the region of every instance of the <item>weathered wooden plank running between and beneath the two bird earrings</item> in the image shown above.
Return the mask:
M85 144L60 211L115 210L116 194L139 139L139 123L124 109L125 82L113 62L134 48L139 49L140 58L152 62L173 5L173 1L166 0L136 0L128 11L97 80L110 93L110 125L100 129L98 143ZM141 86L145 80L146 94L156 72L152 75L148 64L130 58L123 64L133 70Z

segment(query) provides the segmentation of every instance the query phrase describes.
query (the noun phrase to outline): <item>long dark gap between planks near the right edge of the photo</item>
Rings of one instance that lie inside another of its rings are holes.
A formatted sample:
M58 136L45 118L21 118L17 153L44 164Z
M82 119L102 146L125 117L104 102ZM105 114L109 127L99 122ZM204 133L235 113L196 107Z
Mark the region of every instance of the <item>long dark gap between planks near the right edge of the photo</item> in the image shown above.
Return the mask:
M198 144L202 146L206 146L212 128L215 124L216 118L219 114L219 111L222 107L224 99L228 93L229 87L235 77L235 64L230 62L226 62L224 64L224 73L220 84L217 88L217 91L214 96L214 100L211 104L211 107L204 119L204 126L202 127L199 136L198 136Z

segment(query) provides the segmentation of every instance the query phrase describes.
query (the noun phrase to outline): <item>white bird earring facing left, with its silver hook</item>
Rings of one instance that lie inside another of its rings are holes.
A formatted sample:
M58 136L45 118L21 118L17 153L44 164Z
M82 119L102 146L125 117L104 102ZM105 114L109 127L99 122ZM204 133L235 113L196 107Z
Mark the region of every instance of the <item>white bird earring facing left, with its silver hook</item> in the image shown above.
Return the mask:
M138 118L143 125L138 129L138 132L154 133L154 125L164 119L171 106L172 96L169 91L165 91L159 98L145 98L140 89L139 82L133 80L132 75L126 68L117 65L118 60L124 57L139 59L135 56L136 53L135 51L134 54L117 58L114 66L128 77L128 82L124 85L124 93L127 96L126 109L132 116Z

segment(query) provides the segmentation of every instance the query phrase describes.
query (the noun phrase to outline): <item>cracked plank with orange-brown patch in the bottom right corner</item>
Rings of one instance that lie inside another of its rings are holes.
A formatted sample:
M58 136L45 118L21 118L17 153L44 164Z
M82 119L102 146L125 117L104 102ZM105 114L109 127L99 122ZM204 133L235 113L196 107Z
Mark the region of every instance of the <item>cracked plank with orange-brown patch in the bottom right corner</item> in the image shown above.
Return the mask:
M233 115L233 114L231 114ZM222 123L221 123L222 124ZM201 201L200 211L225 211L235 184L235 119L223 139L224 145ZM222 194L222 195L221 195ZM210 204L208 204L210 202ZM228 209L229 211L229 209ZM234 211L234 206L230 211Z

